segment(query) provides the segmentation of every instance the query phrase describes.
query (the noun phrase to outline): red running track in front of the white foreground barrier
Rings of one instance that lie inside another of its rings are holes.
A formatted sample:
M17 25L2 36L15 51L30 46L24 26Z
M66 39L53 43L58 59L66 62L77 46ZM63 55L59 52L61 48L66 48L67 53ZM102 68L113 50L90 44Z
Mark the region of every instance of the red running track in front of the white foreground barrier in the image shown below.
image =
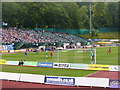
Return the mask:
M47 85L47 84L38 84L38 83L27 83L27 82L16 82L16 81L2 81L2 89L3 90L21 90L21 89L51 89L54 90L57 89L64 89L65 90L73 90L73 89L79 89L79 90L117 90L112 88L98 88L98 87L76 87L76 86L62 86L62 85Z

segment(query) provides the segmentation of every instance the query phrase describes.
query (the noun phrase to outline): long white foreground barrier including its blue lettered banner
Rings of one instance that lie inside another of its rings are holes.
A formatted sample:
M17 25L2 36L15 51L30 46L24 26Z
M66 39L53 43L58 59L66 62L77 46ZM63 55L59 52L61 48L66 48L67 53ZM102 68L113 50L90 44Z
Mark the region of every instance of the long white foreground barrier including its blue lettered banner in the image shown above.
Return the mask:
M110 87L109 78L45 76L23 73L0 72L0 80L13 80L21 82L33 82L67 86Z

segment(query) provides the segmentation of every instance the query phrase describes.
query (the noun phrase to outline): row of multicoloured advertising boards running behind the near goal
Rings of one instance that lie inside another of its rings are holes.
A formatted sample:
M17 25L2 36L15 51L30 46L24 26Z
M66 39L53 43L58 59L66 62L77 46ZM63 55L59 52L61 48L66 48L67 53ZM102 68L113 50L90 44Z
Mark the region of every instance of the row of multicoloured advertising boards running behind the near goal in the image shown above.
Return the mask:
M18 65L19 61L0 60L0 64ZM82 70L97 70L97 71L99 71L99 70L100 71L120 71L120 66L118 66L118 65L52 63L52 62L34 62L34 61L24 61L23 65L34 66L34 67L82 69Z

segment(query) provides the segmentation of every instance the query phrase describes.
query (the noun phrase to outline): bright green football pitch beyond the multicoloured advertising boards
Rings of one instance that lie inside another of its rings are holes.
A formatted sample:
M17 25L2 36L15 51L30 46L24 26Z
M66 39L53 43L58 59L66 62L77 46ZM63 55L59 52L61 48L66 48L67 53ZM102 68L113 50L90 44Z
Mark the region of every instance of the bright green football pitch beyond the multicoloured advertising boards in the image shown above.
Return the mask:
M118 48L112 47L112 53L107 54L108 47L96 48L96 60L97 64L118 65ZM48 52L49 54L49 52ZM28 55L24 53L11 53L3 54L2 59L11 61L39 61L46 62L46 52L29 52ZM62 50L60 52L55 51L53 57L48 56L47 62L61 62L61 63L85 63L90 64L90 51L81 52L80 50ZM120 64L119 64L120 65Z

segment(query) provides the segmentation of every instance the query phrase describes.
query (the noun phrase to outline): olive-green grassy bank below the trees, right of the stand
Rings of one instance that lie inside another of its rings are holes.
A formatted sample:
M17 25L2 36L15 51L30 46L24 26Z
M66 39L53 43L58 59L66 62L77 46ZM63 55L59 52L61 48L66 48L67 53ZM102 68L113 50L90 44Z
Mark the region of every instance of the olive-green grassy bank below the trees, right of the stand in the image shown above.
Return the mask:
M92 39L120 39L120 32L106 32L100 33L99 36L93 36ZM84 38L91 38L89 34L78 35Z

